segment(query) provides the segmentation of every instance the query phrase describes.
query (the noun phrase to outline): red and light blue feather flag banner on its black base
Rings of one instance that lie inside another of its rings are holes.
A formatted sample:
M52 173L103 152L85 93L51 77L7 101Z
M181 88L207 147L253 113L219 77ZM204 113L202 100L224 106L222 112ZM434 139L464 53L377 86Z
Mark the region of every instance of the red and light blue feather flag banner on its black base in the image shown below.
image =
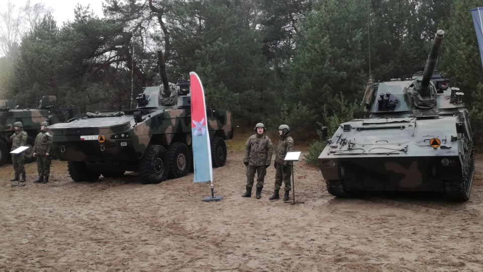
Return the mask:
M193 182L210 181L210 196L202 201L219 201L223 196L214 195L211 145L206 116L205 93L201 80L195 72L190 73L191 135L193 147Z

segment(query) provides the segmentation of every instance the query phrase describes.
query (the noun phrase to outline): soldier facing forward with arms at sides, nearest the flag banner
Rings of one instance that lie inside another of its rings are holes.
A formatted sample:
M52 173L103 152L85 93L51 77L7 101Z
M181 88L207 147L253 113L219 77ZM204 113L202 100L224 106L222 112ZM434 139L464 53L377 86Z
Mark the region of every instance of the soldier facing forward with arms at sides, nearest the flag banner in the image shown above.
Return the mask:
M267 167L272 161L272 141L265 135L265 125L258 123L255 126L256 134L252 135L245 144L245 157L243 163L247 166L247 191L243 197L252 197L253 179L257 173L257 199L262 197L262 188Z

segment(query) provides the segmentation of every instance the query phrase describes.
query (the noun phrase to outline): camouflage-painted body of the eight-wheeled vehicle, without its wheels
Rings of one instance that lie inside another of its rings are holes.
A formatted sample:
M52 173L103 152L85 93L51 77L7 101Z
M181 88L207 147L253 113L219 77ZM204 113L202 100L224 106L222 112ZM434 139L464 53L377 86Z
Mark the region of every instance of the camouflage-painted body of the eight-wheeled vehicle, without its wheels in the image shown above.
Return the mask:
M146 148L160 145L168 149L174 142L191 146L191 108L162 106L160 87L146 87L144 106L122 113L103 112L111 117L81 118L48 127L49 144L61 161L86 162L95 171L138 171ZM189 97L180 97L186 100ZM185 101L186 102L186 101ZM179 105L183 104L179 102ZM142 121L136 123L134 113ZM117 115L117 116L116 116ZM210 139L233 138L233 120L229 111L207 109ZM91 139L92 140L87 140Z

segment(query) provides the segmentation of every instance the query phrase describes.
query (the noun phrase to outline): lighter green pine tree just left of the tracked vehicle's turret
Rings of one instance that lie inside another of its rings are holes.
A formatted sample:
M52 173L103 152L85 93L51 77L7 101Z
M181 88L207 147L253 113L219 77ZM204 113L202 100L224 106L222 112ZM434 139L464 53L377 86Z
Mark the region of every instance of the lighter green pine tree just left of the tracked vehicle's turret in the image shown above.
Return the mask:
M297 48L285 70L285 101L300 101L313 114L311 123L338 111L335 94L343 93L350 101L362 94L366 78L362 41L369 2L320 1L314 7L299 25ZM293 106L288 107L292 111Z

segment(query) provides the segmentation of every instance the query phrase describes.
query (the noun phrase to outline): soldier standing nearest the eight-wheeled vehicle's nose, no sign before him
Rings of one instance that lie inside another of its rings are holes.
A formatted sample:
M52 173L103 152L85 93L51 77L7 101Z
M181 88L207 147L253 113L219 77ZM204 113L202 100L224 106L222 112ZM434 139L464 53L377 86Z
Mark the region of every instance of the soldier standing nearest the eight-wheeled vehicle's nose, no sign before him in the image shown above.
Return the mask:
M33 148L33 156L37 158L37 171L39 172L39 178L34 182L47 183L49 182L50 163L52 162L52 156L50 155L50 146L47 144L47 122L42 122L40 125L40 133L35 138L35 144Z

